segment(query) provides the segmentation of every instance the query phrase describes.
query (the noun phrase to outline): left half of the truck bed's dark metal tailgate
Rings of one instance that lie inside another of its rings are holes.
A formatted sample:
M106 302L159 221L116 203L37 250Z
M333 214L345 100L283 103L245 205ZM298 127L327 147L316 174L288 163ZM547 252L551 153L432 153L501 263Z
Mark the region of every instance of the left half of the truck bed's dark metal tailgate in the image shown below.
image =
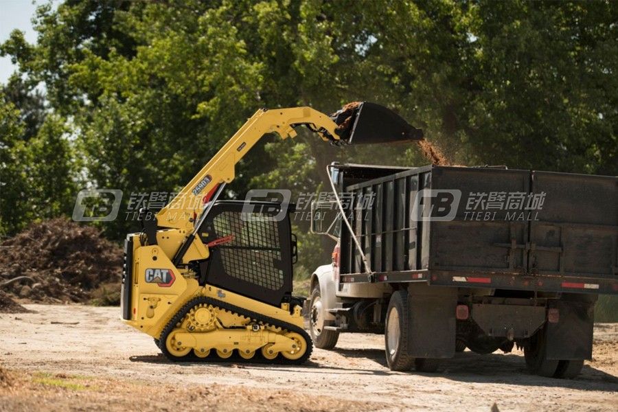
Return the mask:
M460 190L455 220L431 222L430 269L446 271L502 271L521 273L523 249L505 247L523 244L527 222L508 220L506 201L492 201L490 194L505 196L529 192L527 170L436 168L433 190ZM523 216L525 218L525 216Z

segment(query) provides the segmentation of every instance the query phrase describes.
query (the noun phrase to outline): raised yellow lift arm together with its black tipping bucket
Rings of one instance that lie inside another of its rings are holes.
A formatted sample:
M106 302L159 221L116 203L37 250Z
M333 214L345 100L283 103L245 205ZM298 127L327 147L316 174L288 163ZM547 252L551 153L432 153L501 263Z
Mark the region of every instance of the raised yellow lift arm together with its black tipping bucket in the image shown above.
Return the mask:
M422 139L422 130L410 126L399 115L384 106L370 102L353 102L326 115L308 106L262 108L227 141L208 163L154 217L143 218L148 244L157 244L158 229L176 229L189 233L174 254L176 267L183 258L205 220L214 201L225 185L235 177L236 163L264 136L276 133L282 139L295 137L297 126L309 130L331 144L394 143ZM207 209L203 210L207 201Z

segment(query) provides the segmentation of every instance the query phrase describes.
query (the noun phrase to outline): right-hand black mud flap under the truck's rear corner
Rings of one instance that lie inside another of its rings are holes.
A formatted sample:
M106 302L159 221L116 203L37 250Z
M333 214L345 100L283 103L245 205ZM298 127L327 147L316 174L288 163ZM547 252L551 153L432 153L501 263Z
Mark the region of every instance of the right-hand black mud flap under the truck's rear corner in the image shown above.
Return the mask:
M592 359L594 303L559 300L558 322L547 322L547 359Z

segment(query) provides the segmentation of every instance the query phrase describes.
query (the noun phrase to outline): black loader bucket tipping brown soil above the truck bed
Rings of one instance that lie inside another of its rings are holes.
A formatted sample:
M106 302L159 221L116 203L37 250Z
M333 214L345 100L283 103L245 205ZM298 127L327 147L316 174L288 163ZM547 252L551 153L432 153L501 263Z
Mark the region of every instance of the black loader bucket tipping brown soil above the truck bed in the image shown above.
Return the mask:
M423 130L408 124L385 106L371 102L348 103L330 118L347 144L391 144L423 138Z

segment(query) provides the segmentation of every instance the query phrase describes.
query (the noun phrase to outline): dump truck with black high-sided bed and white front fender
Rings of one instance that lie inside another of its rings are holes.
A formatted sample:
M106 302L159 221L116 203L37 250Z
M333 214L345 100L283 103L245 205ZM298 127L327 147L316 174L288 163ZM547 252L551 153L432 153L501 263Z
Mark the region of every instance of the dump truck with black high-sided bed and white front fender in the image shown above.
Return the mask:
M618 293L616 176L343 163L328 173L336 196L313 203L312 231L336 244L305 303L317 347L383 333L396 371L436 371L466 347L516 345L529 371L556 378L591 359L597 296Z

